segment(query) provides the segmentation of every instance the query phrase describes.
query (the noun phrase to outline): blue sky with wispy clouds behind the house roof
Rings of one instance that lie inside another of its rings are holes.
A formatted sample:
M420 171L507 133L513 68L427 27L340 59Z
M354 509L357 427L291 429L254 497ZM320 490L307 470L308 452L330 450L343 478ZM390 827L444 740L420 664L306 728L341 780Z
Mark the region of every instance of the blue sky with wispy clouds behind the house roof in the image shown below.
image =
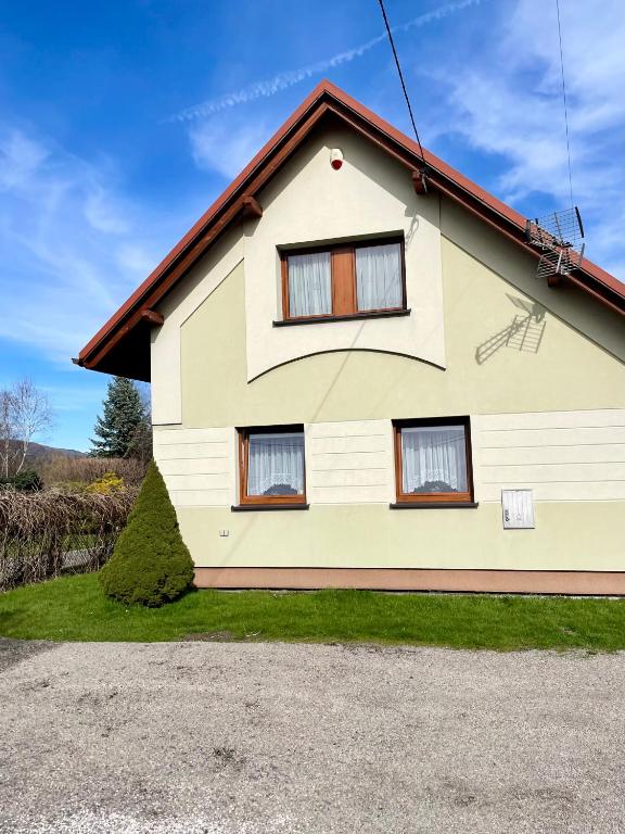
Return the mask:
M423 143L525 214L566 207L554 0L386 9ZM624 279L625 14L561 14L587 255ZM47 442L89 447L107 379L71 357L322 77L409 132L382 34L377 0L2 4L0 387L49 392Z

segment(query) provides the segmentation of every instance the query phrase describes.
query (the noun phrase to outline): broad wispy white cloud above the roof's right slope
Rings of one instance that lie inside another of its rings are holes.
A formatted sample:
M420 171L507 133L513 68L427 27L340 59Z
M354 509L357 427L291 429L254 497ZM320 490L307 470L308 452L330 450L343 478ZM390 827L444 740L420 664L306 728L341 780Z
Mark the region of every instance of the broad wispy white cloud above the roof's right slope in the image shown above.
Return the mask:
M535 5L535 0L519 0L496 37L472 52L470 66L459 52L426 71L442 85L445 111L437 129L432 118L423 121L431 126L429 147L455 134L465 147L505 160L495 178L497 193L521 211L537 205L539 214L546 199L552 207L567 206L569 176L556 12L546 9L537 28ZM579 7L562 23L573 191L584 217L586 254L623 279L621 18L621 0L603 0L600 14L595 7ZM601 45L600 54L594 43Z

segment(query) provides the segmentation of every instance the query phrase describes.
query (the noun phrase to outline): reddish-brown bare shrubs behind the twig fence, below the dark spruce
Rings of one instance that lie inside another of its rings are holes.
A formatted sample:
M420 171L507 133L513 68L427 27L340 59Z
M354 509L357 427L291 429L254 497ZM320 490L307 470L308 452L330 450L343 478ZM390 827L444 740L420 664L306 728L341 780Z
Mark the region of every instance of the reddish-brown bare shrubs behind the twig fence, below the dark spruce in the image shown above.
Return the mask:
M139 486L145 467L144 462L123 457L48 455L37 462L37 471L46 489L58 492L79 492L106 472L114 472L127 486Z

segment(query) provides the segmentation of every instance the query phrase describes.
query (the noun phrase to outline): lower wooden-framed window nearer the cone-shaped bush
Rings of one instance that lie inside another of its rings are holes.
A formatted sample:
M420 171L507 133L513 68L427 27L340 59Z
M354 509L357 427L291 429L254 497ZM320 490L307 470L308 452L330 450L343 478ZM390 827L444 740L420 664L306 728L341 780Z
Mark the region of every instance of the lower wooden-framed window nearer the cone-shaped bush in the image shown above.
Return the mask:
M304 427L240 429L241 504L305 504Z

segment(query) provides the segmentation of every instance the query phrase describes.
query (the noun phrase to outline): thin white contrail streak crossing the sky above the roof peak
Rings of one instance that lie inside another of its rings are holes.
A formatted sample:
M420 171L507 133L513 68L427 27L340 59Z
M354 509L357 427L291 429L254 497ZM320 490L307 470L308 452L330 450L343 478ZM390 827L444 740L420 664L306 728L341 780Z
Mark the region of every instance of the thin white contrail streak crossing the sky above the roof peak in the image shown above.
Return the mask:
M408 31L409 29L426 26L430 23L441 21L444 17L448 17L451 14L461 12L464 9L479 5L481 2L482 0L458 0L458 2L446 3L445 5L441 5L437 9L433 9L431 12L420 14L418 17L413 17L411 21L407 21L406 23L393 27L392 31L395 34L398 31ZM293 87L294 85L312 77L314 75L320 75L321 73L326 73L336 66L341 66L341 64L347 64L350 61L354 61L356 58L361 58L363 54L369 52L370 49L373 49L373 47L378 46L378 43L382 43L384 40L386 40L385 33L383 35L379 35L375 38L371 38L365 43L361 43L359 47L348 49L345 52L339 52L337 54L332 55L332 58L328 58L323 61L317 61L314 64L308 64L308 66L303 66L298 70L289 70L284 73L279 73L272 78L268 78L263 81L255 81L254 84L251 84L247 87L243 87L240 90L227 92L226 94L219 96L215 99L208 99L201 104L187 108L174 116L170 116L166 121L190 122L195 118L212 116L215 113L220 113L224 110L235 108L239 104L247 104L248 102L255 101L256 99L269 98L275 96L277 92L280 92L281 90L286 90L289 87Z

